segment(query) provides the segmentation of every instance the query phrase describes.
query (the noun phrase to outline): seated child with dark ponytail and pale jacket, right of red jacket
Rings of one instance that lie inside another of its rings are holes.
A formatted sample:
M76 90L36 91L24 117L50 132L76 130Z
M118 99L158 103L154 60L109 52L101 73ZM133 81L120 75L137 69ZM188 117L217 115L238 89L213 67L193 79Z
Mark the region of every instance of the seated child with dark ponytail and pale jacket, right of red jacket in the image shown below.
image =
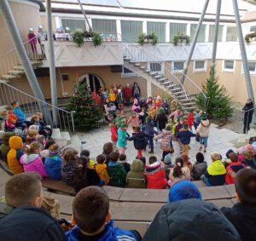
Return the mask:
M169 186L172 186L174 183L180 180L188 180L190 181L191 175L190 170L187 166L185 166L183 158L175 159L175 167L170 171L169 175Z

